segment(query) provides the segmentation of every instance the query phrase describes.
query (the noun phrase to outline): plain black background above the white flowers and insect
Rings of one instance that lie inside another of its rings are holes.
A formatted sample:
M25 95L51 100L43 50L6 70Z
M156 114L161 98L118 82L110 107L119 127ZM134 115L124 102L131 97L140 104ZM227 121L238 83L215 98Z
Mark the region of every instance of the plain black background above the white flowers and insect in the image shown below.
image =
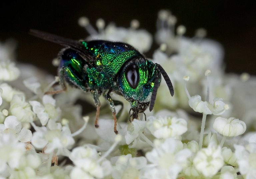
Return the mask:
M81 16L95 27L98 18L108 24L129 27L132 19L140 28L156 32L157 12L169 9L177 25L185 25L185 36L192 37L197 28L207 29L207 37L219 41L225 49L226 71L256 74L256 6L252 1L168 0L168 1L6 1L0 7L0 41L14 38L18 42L17 60L32 63L57 74L51 61L61 46L28 35L38 29L60 36L81 39L87 32L77 24ZM155 46L156 47L156 46ZM146 54L152 57L152 52Z

